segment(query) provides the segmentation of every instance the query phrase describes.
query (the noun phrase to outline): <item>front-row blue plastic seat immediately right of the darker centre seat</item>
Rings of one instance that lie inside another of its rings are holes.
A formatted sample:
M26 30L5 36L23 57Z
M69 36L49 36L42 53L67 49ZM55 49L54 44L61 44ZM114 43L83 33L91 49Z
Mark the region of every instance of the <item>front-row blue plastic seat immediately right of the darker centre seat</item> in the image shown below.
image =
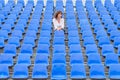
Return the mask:
M84 65L72 65L70 78L72 79L84 79L86 78L86 70Z

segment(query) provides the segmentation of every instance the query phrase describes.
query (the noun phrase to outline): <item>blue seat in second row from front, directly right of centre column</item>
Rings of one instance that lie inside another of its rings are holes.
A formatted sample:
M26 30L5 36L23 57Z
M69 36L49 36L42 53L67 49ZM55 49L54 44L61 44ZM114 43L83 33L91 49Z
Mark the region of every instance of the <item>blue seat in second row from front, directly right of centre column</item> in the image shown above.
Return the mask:
M70 55L70 65L74 65L74 64L83 64L84 60L83 60L83 56L82 54L71 54Z

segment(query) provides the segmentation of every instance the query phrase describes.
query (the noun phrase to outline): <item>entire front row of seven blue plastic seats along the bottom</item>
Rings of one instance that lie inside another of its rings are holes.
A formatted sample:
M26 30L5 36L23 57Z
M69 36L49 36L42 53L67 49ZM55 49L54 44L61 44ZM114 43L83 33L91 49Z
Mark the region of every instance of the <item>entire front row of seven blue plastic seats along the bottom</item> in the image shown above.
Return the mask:
M119 79L120 77L120 65L110 65L109 78ZM65 65L53 65L51 72L51 79L67 79ZM116 73L114 73L116 72ZM9 78L9 68L6 65L0 65L0 78ZM103 65L91 65L90 78L92 79L105 79L105 70ZM28 78L29 72L27 65L17 64L14 67L12 78ZM32 78L48 78L48 72L46 65L35 64L33 67ZM86 78L86 70L84 65L72 65L70 78L83 79Z

